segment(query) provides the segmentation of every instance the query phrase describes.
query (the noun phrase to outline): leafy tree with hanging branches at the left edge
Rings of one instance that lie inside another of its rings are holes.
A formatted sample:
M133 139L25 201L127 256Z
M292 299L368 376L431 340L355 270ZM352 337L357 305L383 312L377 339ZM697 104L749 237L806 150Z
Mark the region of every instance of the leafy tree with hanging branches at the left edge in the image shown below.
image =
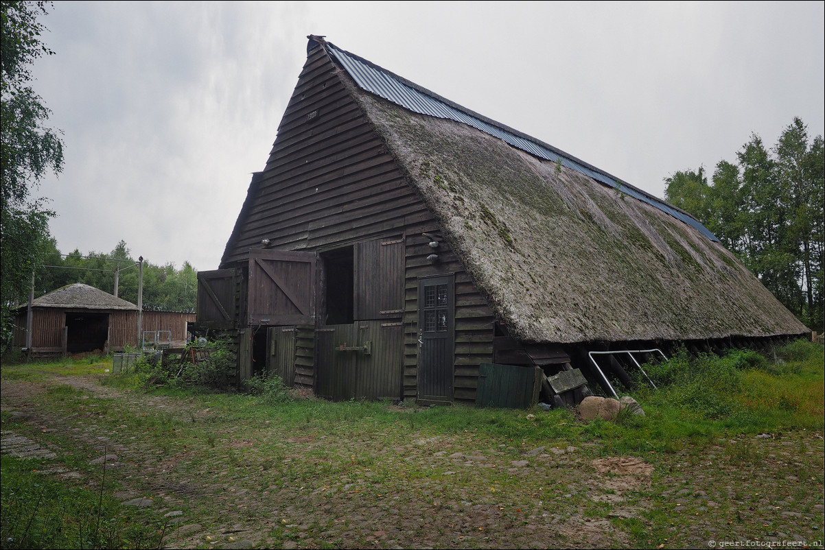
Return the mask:
M54 54L40 40L46 2L0 2L0 305L2 341L12 330L10 308L25 301L35 266L49 245L54 213L32 190L47 172L63 169L59 131L44 126L50 110L31 89L31 65Z

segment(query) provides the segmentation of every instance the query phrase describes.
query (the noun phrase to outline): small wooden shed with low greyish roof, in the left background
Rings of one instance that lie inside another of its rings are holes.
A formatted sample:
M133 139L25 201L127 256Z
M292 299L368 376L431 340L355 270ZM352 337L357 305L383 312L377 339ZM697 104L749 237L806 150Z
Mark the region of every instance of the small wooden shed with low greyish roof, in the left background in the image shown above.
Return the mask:
M134 303L88 284L68 284L32 302L31 336L26 333L27 307L17 310L12 346L26 348L31 357L137 349L142 344L138 313ZM186 323L194 320L194 313L143 312L141 324L155 335L153 341L160 331L170 344L180 345L186 341Z

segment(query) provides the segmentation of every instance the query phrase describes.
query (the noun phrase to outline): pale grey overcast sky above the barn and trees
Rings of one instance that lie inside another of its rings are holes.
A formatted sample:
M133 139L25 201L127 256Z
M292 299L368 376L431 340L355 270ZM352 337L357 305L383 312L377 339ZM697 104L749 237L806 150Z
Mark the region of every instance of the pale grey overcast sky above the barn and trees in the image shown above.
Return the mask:
M65 167L38 194L64 253L217 269L315 34L661 197L794 116L823 134L823 6L57 1L34 73Z

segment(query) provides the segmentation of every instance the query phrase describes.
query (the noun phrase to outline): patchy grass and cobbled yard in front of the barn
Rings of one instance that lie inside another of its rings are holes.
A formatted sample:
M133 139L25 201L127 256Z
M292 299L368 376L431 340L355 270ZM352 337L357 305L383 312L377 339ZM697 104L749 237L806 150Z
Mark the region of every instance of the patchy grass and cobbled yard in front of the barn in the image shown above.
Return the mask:
M821 548L823 346L647 371L586 423L3 364L2 547Z

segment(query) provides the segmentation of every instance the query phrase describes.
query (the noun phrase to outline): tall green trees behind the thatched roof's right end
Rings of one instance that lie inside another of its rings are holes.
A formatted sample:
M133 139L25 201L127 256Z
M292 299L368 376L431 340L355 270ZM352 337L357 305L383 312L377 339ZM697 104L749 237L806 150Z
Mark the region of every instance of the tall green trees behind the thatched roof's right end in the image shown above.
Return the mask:
M768 149L752 134L736 162L665 178L665 198L705 224L786 308L823 331L823 137L794 118Z

